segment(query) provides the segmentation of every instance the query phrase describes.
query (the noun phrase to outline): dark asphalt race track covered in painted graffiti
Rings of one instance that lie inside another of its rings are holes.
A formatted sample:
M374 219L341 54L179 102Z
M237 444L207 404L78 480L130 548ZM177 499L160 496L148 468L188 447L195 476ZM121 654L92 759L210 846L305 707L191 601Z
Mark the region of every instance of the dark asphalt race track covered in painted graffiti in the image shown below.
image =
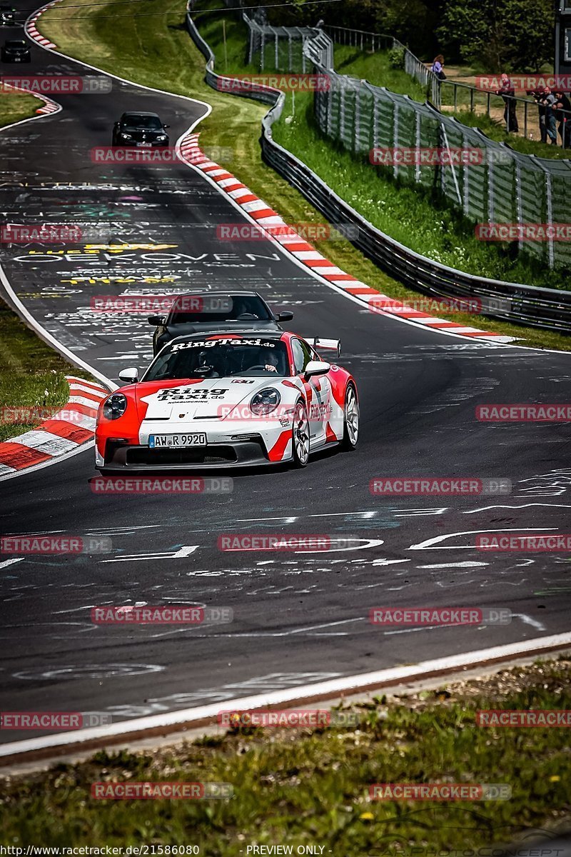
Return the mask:
M85 73L36 45L32 54L22 74ZM122 367L148 362L152 327L145 315L93 312L93 296L258 290L275 309L294 309L288 329L342 340L340 362L360 388L361 436L356 452L321 454L306 470L231 473L230 494L94 494L92 448L3 481L4 533L112 542L106 554L0 558L4 707L122 720L567 631L566 554L485 554L474 539L486 530L569 531L568 424L475 417L482 404L568 401L568 354L471 342L372 314L275 243L218 239L217 225L242 216L197 171L90 159L92 147L110 145L124 110L158 112L175 142L204 105L119 81L109 94L56 100L61 112L0 135L3 222L73 220L98 245L3 250L6 277L39 325L116 382ZM118 243L143 247L110 249ZM395 499L370 493L376 476L493 477L513 488ZM359 541L334 541L327 552L223 553L217 536L231 533ZM91 620L96 605L169 603L229 607L234 621ZM501 626L382 628L368 620L375 606L514 615Z

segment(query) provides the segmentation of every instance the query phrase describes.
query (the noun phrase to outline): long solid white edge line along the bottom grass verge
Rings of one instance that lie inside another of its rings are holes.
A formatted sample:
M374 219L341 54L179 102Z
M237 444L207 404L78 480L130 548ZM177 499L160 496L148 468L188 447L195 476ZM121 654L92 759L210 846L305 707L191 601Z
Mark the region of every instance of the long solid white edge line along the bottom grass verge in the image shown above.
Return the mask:
M518 643L493 646L489 649L479 649L464 652L461 655L448 655L435 658L431 661L421 661L405 667L390 667L379 669L371 673L360 673L357 675L346 675L342 678L325 680L310 685L290 686L285 690L259 693L255 696L232 698L232 708L239 710L256 710L267 708L272 705L287 706L289 702L296 704L309 703L315 698L336 698L340 694L349 695L360 692L364 688L383 686L387 682L410 681L421 679L427 675L453 672L464 667L470 668L483 665L486 662L494 662L497 658L512 658L526 656L530 652L541 652L553 648L563 648L571 644L571 632L553 634L550 637L536 637L520 640ZM230 700L228 700L230 701ZM82 741L98 740L102 746L105 740L116 736L128 737L129 733L141 732L146 729L166 728L186 723L201 722L205 720L216 721L220 703L209 705L198 705L193 708L167 711L163 714L134 717L132 720L121 723L111 723L109 726L80 729L76 732L64 732L54 735L43 735L39 738L14 741L9 744L0 745L0 757L13 756L19 753L33 752L45 748L55 748L72 744L80 744Z

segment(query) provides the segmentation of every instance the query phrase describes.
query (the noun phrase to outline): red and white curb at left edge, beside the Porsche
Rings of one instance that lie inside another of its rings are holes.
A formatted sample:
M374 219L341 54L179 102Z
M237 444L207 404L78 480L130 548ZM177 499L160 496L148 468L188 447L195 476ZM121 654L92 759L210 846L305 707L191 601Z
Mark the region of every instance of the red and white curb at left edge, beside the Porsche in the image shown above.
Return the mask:
M44 464L93 439L98 406L109 390L71 375L66 381L69 399L61 411L38 428L0 443L0 476Z

